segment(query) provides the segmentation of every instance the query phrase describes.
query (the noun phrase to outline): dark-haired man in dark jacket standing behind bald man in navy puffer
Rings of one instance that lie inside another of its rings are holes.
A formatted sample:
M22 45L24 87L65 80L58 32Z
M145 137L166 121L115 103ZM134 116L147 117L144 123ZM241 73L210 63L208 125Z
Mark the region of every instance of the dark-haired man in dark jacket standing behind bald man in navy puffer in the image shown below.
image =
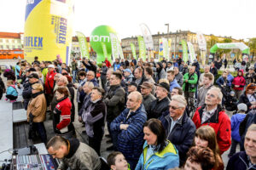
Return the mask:
M110 123L113 122L119 114L125 109L125 90L120 86L122 75L119 72L114 71L110 77L109 84L110 88L105 96L104 103L107 105L107 122L108 122L108 132L113 140L110 131ZM113 140L113 145L116 141ZM109 147L107 150L114 150L113 146Z

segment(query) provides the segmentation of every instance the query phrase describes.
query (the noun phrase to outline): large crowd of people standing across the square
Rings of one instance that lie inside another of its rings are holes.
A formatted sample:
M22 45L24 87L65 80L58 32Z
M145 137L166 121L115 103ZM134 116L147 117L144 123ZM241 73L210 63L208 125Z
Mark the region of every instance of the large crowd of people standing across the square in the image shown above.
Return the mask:
M20 88L29 139L39 137L61 159L62 170L221 170L230 146L227 169L256 169L254 67L238 69L235 77L224 69L218 77L220 64L215 60L202 69L196 59L189 64L178 57L115 59L113 65L108 58L101 65L73 59L67 65L60 56L35 57L4 71L0 98L6 93L4 99L15 102ZM55 133L49 140L47 114ZM76 139L75 117L88 144ZM104 135L113 144L107 161L100 157Z

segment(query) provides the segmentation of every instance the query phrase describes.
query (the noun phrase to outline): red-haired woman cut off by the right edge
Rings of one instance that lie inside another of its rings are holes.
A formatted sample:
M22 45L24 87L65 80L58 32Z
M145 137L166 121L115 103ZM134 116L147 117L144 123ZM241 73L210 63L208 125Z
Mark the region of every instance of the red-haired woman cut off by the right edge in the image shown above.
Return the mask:
M256 108L256 95L254 94L255 90L256 84L250 83L247 85L244 94L241 94L239 98L239 104L244 103L247 105L247 112L251 111L253 108Z

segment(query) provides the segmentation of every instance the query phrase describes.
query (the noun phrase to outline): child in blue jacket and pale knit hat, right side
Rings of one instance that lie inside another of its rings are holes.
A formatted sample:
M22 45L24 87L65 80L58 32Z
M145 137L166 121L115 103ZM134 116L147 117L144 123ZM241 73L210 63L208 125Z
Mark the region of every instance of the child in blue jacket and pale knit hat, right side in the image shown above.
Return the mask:
M230 148L230 154L229 157L233 156L236 154L236 145L241 144L241 137L239 134L239 126L240 123L244 120L246 116L246 111L247 111L247 105L241 103L237 105L237 110L238 112L236 115L233 115L231 117L231 148ZM240 147L241 148L241 147Z

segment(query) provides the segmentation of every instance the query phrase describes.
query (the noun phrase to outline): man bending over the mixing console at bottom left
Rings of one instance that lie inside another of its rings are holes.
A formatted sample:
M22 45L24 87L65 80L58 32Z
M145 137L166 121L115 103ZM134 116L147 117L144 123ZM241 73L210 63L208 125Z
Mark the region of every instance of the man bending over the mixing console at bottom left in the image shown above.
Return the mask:
M60 160L58 169L71 170L96 169L100 170L102 162L96 151L89 145L79 142L79 139L64 139L55 136L49 140L46 148L49 155Z

